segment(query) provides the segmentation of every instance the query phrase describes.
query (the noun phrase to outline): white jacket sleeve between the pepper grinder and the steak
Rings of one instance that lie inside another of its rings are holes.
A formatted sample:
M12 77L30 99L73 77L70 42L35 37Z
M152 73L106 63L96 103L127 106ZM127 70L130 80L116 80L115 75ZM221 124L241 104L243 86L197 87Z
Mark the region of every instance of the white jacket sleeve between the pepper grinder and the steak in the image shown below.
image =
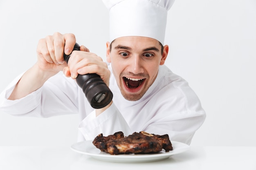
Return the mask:
M125 136L131 134L130 127L114 103L98 117L96 117L95 110L90 113L79 124L79 130L86 140L93 140L101 133L103 136L112 135L119 131L124 132Z

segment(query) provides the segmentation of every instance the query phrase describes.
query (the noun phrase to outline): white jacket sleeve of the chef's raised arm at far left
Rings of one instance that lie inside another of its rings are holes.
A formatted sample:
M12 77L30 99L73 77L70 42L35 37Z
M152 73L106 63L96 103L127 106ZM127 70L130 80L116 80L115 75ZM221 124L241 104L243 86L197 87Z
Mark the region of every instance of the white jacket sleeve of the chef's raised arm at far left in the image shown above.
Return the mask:
M54 75L41 88L21 99L8 100L21 76L16 77L1 94L0 109L4 112L31 117L51 117L78 112L76 84L61 74Z

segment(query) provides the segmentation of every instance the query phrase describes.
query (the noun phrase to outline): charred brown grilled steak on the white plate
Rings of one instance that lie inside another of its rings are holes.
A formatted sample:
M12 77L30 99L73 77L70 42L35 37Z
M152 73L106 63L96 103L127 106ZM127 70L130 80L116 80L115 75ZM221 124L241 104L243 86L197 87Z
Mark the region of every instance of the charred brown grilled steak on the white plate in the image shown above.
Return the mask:
M156 153L164 149L166 152L173 150L168 135L154 135L147 132L134 132L124 137L123 132L103 137L101 133L92 141L94 146L111 155Z

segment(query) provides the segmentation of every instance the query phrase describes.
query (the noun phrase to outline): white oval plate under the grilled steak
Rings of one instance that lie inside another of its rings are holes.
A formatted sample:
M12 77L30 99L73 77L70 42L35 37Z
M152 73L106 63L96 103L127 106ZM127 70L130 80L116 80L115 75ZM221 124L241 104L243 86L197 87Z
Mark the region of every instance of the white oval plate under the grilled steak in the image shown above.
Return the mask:
M171 157L172 155L176 155L182 153L189 149L189 145L171 141L173 145L173 150L169 152L165 152L162 150L159 153L153 154L128 154L128 155L110 155L106 152L101 152L96 146L92 144L92 140L90 141L81 141L71 146L71 149L75 152L79 152L85 155L88 155L94 159L100 161L109 161L109 162L122 162L122 163L136 163L136 162L151 162L151 161L160 161Z

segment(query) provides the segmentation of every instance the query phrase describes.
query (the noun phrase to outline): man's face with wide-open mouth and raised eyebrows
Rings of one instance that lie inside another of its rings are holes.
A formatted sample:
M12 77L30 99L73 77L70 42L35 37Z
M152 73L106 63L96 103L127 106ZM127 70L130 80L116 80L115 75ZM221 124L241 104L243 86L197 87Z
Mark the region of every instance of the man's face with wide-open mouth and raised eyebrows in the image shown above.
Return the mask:
M152 38L129 36L117 38L107 43L107 61L125 99L139 100L157 77L159 65L164 64L168 46L161 45Z

